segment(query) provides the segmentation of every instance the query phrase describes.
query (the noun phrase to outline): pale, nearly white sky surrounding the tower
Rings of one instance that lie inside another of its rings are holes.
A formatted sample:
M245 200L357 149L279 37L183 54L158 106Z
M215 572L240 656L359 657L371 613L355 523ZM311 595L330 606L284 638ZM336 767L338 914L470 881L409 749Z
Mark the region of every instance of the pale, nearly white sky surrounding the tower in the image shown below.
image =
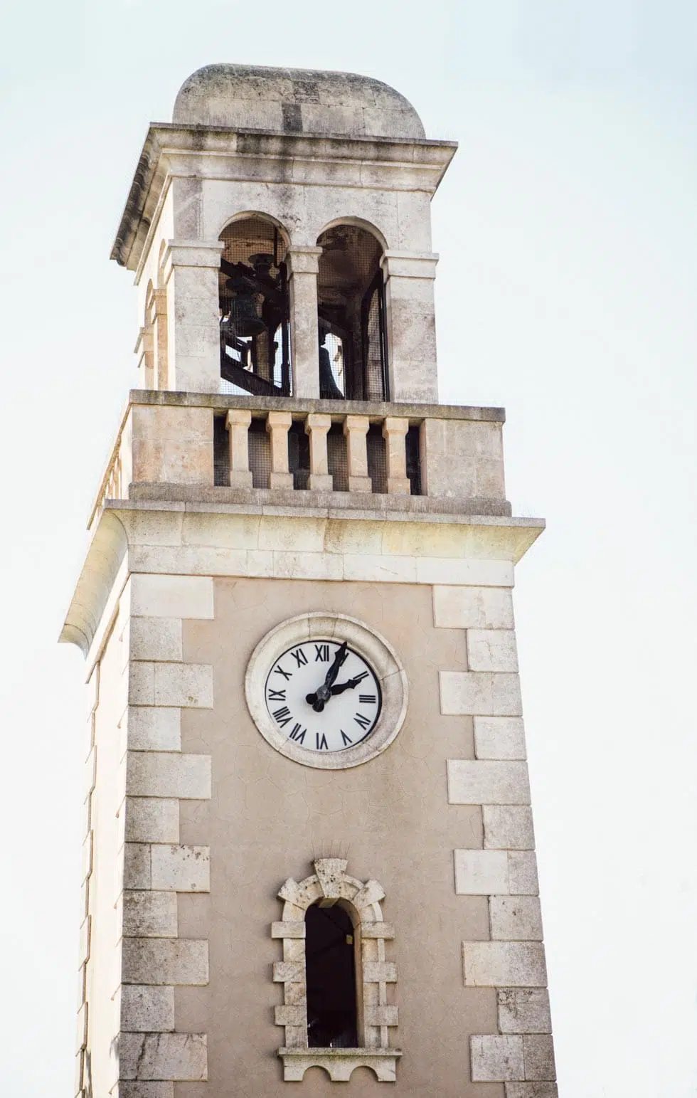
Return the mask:
M346 69L460 142L441 400L507 410L549 528L517 625L561 1098L697 1093L697 7L64 0L0 14L3 1098L72 1094L82 788L56 646L134 381L109 261L150 120L213 61Z

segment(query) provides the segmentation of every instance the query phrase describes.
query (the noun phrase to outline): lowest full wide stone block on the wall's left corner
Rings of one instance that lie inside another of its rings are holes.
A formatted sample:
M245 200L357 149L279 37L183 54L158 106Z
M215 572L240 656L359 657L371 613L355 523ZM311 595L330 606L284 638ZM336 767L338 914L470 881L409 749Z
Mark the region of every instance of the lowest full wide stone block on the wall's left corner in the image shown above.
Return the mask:
M123 1079L205 1082L205 1033L122 1033L119 1071Z

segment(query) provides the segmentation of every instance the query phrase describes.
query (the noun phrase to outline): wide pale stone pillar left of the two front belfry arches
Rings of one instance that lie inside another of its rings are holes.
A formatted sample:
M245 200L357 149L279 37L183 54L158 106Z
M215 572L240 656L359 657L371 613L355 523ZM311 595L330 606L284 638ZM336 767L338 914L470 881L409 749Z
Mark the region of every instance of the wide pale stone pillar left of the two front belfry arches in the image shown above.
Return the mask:
M217 272L223 247L221 240L170 240L165 251L170 390L220 392Z

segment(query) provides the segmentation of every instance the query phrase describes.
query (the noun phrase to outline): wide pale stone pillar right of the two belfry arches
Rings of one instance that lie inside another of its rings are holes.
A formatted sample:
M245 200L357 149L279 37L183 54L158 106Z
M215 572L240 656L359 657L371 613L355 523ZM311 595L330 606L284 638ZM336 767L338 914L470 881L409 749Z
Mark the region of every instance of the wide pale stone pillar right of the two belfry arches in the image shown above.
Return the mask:
M436 404L436 314L434 279L438 256L431 253L385 251L390 399Z

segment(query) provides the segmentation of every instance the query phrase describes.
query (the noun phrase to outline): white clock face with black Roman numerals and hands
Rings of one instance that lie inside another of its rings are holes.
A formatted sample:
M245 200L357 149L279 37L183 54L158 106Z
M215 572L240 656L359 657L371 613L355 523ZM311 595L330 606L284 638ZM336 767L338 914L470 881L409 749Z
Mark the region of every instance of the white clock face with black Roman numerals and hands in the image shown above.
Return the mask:
M380 680L348 641L313 638L285 649L265 685L269 719L305 751L346 751L370 736L382 708Z

